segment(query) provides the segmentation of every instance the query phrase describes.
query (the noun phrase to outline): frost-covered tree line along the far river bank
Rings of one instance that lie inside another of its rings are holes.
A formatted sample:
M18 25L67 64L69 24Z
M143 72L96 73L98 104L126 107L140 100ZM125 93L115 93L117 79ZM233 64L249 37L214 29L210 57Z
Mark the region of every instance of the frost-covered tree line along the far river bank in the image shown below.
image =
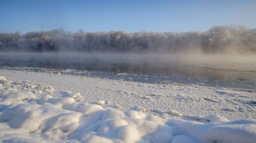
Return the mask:
M0 33L0 51L23 52L256 52L256 29L215 26L207 32L65 32Z

